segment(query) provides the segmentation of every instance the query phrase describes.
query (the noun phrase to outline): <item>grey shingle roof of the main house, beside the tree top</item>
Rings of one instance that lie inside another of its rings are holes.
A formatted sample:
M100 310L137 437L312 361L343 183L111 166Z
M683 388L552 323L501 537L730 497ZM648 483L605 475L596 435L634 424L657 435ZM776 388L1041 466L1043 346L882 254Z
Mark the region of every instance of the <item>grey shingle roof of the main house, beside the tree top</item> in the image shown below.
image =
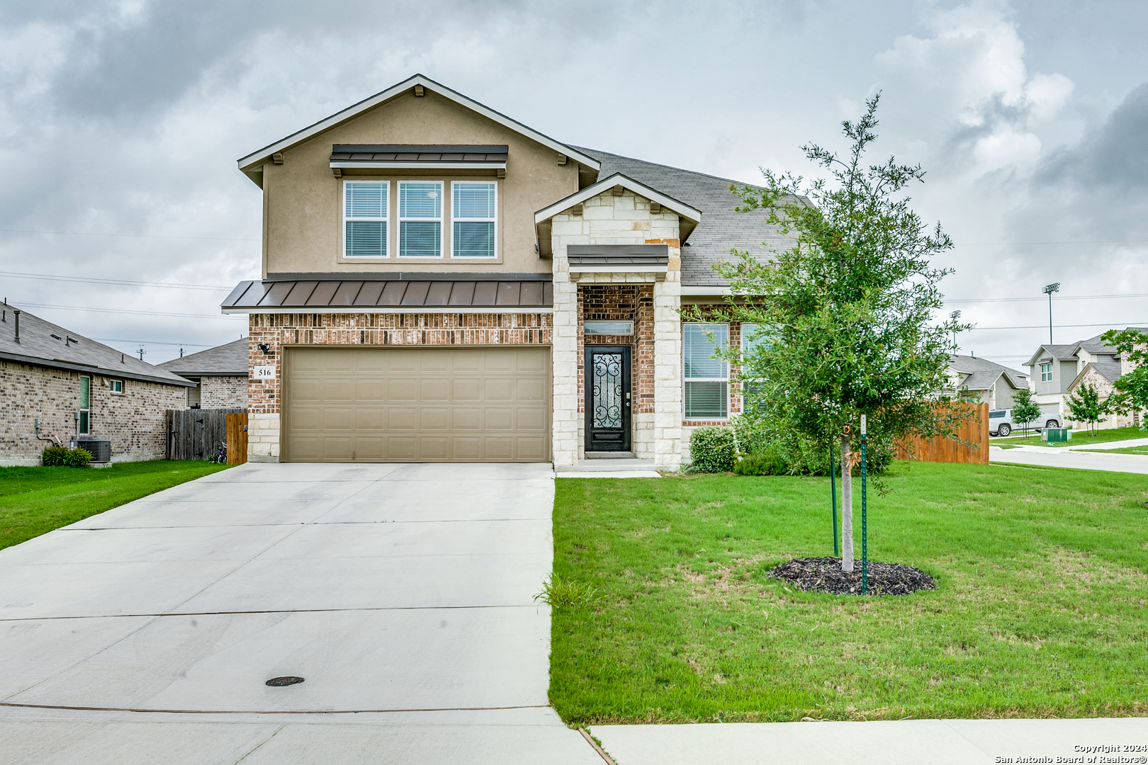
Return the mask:
M790 248L791 236L766 223L766 212L734 212L740 200L729 190L732 181L678 167L643 162L597 149L573 147L602 163L598 178L622 173L701 211L701 223L682 247L682 284L724 287L729 281L713 270L713 264L732 261L730 249L748 250L760 260L769 259L769 248ZM768 247L762 245L766 243Z

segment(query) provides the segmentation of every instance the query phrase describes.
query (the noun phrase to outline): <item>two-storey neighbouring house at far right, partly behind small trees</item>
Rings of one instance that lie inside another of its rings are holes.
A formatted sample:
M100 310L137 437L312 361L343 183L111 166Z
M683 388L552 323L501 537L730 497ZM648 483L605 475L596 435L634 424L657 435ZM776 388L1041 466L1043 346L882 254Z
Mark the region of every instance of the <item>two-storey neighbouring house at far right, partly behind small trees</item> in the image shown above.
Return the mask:
M1137 329L1128 327L1128 329ZM1142 329L1141 331L1148 331ZM1068 420L1068 397L1086 382L1096 385L1101 399L1108 398L1112 383L1128 372L1132 366L1128 360L1120 359L1119 351L1107 345L1101 335L1077 341L1068 345L1041 345L1025 365L1032 375L1032 391L1042 408L1050 411L1056 407L1064 420ZM1091 367L1091 369L1089 369ZM1115 376L1112 376L1115 375ZM1131 424L1131 417L1108 417L1099 428L1116 428L1117 422ZM1137 416L1135 421L1139 422ZM1077 423L1079 426L1079 423Z

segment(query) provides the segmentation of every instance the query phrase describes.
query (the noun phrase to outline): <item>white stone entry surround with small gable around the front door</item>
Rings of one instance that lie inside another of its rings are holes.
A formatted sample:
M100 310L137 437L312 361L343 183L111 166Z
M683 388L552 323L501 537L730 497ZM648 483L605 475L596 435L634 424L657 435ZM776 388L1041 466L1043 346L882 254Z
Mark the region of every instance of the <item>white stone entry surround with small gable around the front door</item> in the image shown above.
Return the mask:
M677 213L666 209L652 212L649 200L634 192L625 189L615 194L613 189L607 189L585 200L581 213L571 209L556 214L551 226L554 279L551 427L554 465L572 466L585 454L582 432L584 401L579 369L585 339L579 303L583 303L582 311L589 304L606 313L620 313L625 295L620 287L625 284L631 289L641 286L638 309L643 292L652 303L652 358L631 357L634 388L639 393L643 374L649 375L652 370L652 381L649 381L652 401L644 400L638 411L631 411L635 456L652 459L661 469L677 469L682 463L682 326L677 313L682 282ZM571 244L666 244L669 264L666 273L571 273L566 257L566 247ZM606 286L610 287L603 289ZM605 303L600 296L607 297ZM613 304L607 305L611 300ZM643 338L637 335L627 343L616 344L636 344L645 350ZM639 367L639 360L646 361L645 368Z

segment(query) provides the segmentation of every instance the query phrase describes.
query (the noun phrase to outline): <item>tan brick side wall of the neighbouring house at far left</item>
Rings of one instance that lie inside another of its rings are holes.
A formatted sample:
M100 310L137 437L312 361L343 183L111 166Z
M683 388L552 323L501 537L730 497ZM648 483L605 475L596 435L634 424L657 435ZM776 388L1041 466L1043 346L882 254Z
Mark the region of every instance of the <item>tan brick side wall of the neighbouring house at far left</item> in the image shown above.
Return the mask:
M80 376L91 376L90 436L111 442L113 462L162 460L168 451L166 409L181 409L186 389L162 383L123 380L124 392L113 393L102 375L0 361L0 465L39 465L55 436L63 445L76 435Z

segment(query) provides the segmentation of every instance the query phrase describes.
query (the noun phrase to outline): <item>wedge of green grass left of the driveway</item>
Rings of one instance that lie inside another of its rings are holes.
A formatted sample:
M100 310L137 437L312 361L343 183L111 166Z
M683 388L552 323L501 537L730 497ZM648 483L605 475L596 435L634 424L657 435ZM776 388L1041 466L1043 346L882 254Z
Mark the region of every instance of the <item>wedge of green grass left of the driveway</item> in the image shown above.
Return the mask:
M204 461L109 468L0 468L0 549L186 481L225 470Z

